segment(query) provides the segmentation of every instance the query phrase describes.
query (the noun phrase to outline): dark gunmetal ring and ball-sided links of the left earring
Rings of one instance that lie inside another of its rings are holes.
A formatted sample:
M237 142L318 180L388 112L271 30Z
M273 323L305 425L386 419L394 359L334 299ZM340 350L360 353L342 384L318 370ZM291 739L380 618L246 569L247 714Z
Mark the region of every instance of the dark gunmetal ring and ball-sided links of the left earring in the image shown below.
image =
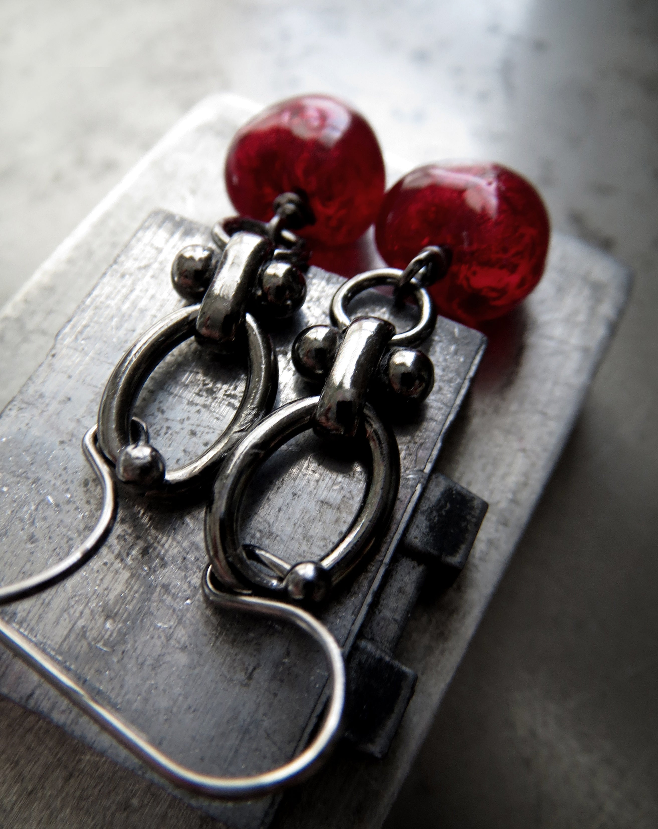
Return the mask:
M269 411L278 368L259 317L288 318L306 298L306 243L292 230L315 221L305 196L283 193L273 202L276 215L263 221L235 216L217 222L216 245L187 245L172 263L172 284L182 298L199 304L175 312L136 342L105 386L99 408L99 447L124 483L150 495L179 494L201 485L236 438ZM244 336L246 334L246 337ZM172 348L194 336L219 354L247 346L245 395L236 418L195 463L167 473L162 454L148 434L133 434L133 405L143 383ZM241 421L241 422L239 422Z

